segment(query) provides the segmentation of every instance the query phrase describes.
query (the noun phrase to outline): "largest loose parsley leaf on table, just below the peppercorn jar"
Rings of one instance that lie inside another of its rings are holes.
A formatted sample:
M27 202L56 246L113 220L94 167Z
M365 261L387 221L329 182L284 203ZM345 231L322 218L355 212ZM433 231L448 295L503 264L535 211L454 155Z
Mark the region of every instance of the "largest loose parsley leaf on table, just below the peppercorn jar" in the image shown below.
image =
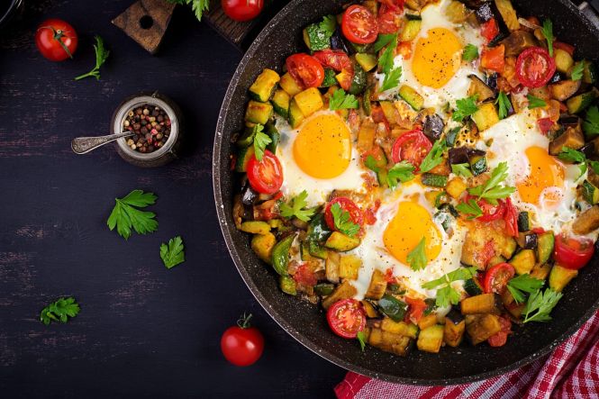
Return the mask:
M143 212L137 208L145 208L156 202L156 195L133 190L124 198L115 198L113 212L108 217L108 228L116 231L125 240L131 237L131 229L138 234L147 234L158 229L158 222L153 212Z

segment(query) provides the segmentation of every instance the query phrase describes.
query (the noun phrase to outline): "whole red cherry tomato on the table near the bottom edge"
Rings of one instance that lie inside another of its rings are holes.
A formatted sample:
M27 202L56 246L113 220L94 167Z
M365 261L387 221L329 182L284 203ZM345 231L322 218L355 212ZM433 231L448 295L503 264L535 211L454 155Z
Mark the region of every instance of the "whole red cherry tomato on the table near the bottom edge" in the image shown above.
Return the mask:
M256 327L250 327L251 314L245 314L236 326L222 334L221 350L224 358L235 366L250 366L262 356L264 337Z

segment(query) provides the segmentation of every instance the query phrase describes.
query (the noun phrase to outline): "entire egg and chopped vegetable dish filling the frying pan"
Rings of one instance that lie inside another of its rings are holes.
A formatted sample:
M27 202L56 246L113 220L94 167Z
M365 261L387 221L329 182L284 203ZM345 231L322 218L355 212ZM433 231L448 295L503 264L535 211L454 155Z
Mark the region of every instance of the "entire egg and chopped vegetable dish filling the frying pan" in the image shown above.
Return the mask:
M599 229L594 63L510 0L354 2L303 41L233 139L265 273L401 356L550 322Z

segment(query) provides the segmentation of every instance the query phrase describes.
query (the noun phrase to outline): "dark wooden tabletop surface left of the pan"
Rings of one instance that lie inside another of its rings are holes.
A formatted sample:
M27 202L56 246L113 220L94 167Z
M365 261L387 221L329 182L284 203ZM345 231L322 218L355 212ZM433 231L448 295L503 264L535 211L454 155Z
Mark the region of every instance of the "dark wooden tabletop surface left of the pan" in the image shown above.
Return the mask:
M241 52L178 9L158 57L110 21L132 0L28 1L0 34L0 397L328 397L344 370L271 321L233 266L214 213L213 132ZM33 4L34 3L34 4ZM77 57L41 58L46 17L79 32ZM112 51L102 80L93 35ZM72 138L104 134L127 95L156 90L183 108L193 143L167 167L134 168L113 148L76 156ZM106 227L113 198L159 195L159 231L128 241ZM180 234L186 263L168 270L159 244ZM79 316L44 326L41 308L74 295ZM228 364L220 337L251 312L267 346L253 367Z

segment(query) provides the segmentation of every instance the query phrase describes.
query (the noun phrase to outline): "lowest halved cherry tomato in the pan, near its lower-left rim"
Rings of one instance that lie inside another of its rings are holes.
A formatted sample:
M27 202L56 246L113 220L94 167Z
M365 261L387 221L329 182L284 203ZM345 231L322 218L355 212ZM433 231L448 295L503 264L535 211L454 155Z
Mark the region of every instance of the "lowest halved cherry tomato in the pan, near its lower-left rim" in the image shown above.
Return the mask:
M355 299L342 299L327 311L327 322L331 330L343 338L356 338L366 326L366 313L362 304Z

